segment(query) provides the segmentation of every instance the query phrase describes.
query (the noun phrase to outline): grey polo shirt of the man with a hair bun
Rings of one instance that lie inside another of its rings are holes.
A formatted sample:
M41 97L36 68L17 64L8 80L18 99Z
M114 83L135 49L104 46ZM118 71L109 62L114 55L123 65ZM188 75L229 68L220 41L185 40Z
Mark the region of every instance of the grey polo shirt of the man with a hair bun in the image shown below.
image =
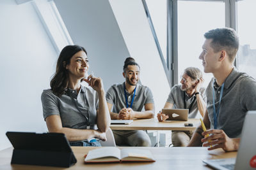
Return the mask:
M129 106L131 104L133 94L134 92L132 92L132 94L129 94L127 92ZM124 83L122 84L118 83L116 85L112 85L106 94L106 100L108 103L113 104L114 113L119 113L119 111L122 110L122 108L126 108L125 95L124 95ZM132 110L143 111L144 105L147 103L154 103L151 90L144 85L137 84L136 93L135 93L134 101L132 104Z

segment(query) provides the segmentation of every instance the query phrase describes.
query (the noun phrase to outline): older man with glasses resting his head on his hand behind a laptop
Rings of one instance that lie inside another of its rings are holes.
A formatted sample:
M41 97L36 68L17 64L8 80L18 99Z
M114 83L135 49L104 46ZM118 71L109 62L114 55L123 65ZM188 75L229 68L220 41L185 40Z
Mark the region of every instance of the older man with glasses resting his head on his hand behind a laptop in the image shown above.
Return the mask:
M186 68L180 80L181 85L172 87L164 108L188 109L189 118L198 118L200 115L204 117L206 97L205 89L202 87L204 83L202 76L200 69L196 67ZM162 122L168 116L158 113L157 118L159 122ZM172 131L173 146L187 146L192 134L193 131Z

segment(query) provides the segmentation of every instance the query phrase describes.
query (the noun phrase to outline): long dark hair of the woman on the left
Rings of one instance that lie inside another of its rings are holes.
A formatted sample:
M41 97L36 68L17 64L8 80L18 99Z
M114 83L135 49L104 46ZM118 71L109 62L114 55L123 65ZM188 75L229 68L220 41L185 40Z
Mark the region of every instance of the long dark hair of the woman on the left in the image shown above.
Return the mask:
M70 64L72 56L80 51L84 51L87 55L83 46L79 45L67 45L61 50L56 65L56 72L51 80L51 90L56 96L60 97L65 93L65 90L68 87L68 70L66 69L66 66Z

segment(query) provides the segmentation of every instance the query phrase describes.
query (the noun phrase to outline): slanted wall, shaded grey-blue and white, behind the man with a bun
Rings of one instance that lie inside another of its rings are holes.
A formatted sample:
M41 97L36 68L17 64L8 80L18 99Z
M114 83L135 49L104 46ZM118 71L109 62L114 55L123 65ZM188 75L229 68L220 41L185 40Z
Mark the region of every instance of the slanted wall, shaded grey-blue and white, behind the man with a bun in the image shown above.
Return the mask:
M105 89L124 81L122 66L134 57L141 82L153 92L156 112L163 108L170 87L140 0L54 0L75 44L88 51L90 67Z

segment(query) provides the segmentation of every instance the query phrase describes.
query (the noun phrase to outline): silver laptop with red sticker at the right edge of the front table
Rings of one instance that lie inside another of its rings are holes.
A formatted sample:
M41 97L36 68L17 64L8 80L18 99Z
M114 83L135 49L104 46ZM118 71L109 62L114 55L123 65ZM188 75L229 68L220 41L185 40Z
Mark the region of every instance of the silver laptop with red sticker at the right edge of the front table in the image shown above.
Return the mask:
M248 111L244 120L237 158L208 159L205 164L214 169L256 169L256 111Z

